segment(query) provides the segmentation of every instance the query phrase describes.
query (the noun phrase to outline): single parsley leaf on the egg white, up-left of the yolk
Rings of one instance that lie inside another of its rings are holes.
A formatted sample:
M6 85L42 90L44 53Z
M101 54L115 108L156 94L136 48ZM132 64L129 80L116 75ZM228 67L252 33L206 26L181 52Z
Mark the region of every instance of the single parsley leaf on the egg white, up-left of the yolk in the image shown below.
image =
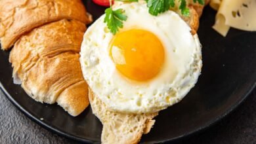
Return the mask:
M108 8L105 10L105 13L104 23L107 24L110 32L115 35L118 29L123 27L123 21L127 20L127 16L123 14L123 9L112 10L111 8Z

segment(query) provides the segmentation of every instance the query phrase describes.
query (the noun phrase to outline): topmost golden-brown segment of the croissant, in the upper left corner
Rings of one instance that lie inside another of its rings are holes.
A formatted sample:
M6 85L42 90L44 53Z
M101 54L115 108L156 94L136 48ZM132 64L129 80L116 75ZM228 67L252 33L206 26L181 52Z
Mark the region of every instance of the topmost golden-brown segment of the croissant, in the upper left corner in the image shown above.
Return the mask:
M90 22L80 0L1 0L1 46L8 50L24 33L62 19Z

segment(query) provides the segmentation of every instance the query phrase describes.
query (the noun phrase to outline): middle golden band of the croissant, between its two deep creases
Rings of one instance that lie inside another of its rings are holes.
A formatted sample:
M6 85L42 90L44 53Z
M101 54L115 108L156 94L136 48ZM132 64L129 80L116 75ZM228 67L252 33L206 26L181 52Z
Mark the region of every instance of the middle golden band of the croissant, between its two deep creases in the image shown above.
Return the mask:
M33 29L30 33L20 37L12 48L10 62L18 77L26 73L41 57L54 56L62 52L80 51L85 24L76 20L60 20Z

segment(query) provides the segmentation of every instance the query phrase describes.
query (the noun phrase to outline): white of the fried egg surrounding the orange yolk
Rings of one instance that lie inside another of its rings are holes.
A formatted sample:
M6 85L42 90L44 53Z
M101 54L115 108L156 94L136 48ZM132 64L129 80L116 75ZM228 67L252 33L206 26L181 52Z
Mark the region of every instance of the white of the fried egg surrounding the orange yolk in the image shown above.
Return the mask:
M181 101L200 75L198 36L193 36L186 22L171 10L152 16L145 3L127 3L114 9L124 9L128 16L119 32L144 29L154 33L165 48L165 62L161 72L147 82L121 75L109 54L114 35L102 15L87 29L80 52L83 76L91 90L108 109L121 113L153 113Z

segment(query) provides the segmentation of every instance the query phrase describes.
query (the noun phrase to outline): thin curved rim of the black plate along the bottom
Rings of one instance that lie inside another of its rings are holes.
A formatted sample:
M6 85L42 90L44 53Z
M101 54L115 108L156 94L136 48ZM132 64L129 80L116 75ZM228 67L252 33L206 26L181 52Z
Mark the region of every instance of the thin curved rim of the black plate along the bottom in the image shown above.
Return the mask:
M183 135L180 135L180 136L177 136L177 137L173 137L171 139L158 141L156 143L168 143L168 142L173 142L173 141L179 141L181 139L192 136L194 134L198 134L199 132L202 132L203 130L207 130L207 128L210 128L214 124L217 124L217 122L219 122L220 120L225 118L227 115L232 113L232 111L237 109L238 106L241 105L245 101L246 98L248 98L249 94L251 94L251 92L255 89L256 82L254 82L251 86L248 86L248 87L249 88L248 88L248 90L245 90L245 94L243 94L244 96L242 97L242 99L240 99L236 103L234 103L231 107L228 108L227 111L224 111L224 113L222 115L220 115L219 117L214 118L213 120L210 120L207 124L203 124L203 126L200 126L199 128L196 128L195 130L192 130L191 132L188 132L186 134L183 134ZM12 105L14 105L24 115L26 115L26 117L30 118L30 120L32 120L36 124L39 124L39 126L41 126L42 128L45 128L46 130L49 130L49 131L51 131L55 134L61 135L61 136L66 137L68 139L73 139L75 141L79 141L79 142L83 142L83 143L99 143L98 141L83 139L81 137L77 137L75 135L71 135L71 134L67 134L65 132L62 132L61 130L58 130L57 128L53 128L53 126L50 126L49 124L46 124L42 120L39 120L39 118L36 118L31 113L26 111L26 109L24 109L24 107L22 107L22 105L20 105L17 101L15 101L14 98L12 98L11 94L9 94L9 92L3 86L1 81L0 81L0 89L2 90L3 94L7 97L7 99L9 99L9 101L11 101Z

